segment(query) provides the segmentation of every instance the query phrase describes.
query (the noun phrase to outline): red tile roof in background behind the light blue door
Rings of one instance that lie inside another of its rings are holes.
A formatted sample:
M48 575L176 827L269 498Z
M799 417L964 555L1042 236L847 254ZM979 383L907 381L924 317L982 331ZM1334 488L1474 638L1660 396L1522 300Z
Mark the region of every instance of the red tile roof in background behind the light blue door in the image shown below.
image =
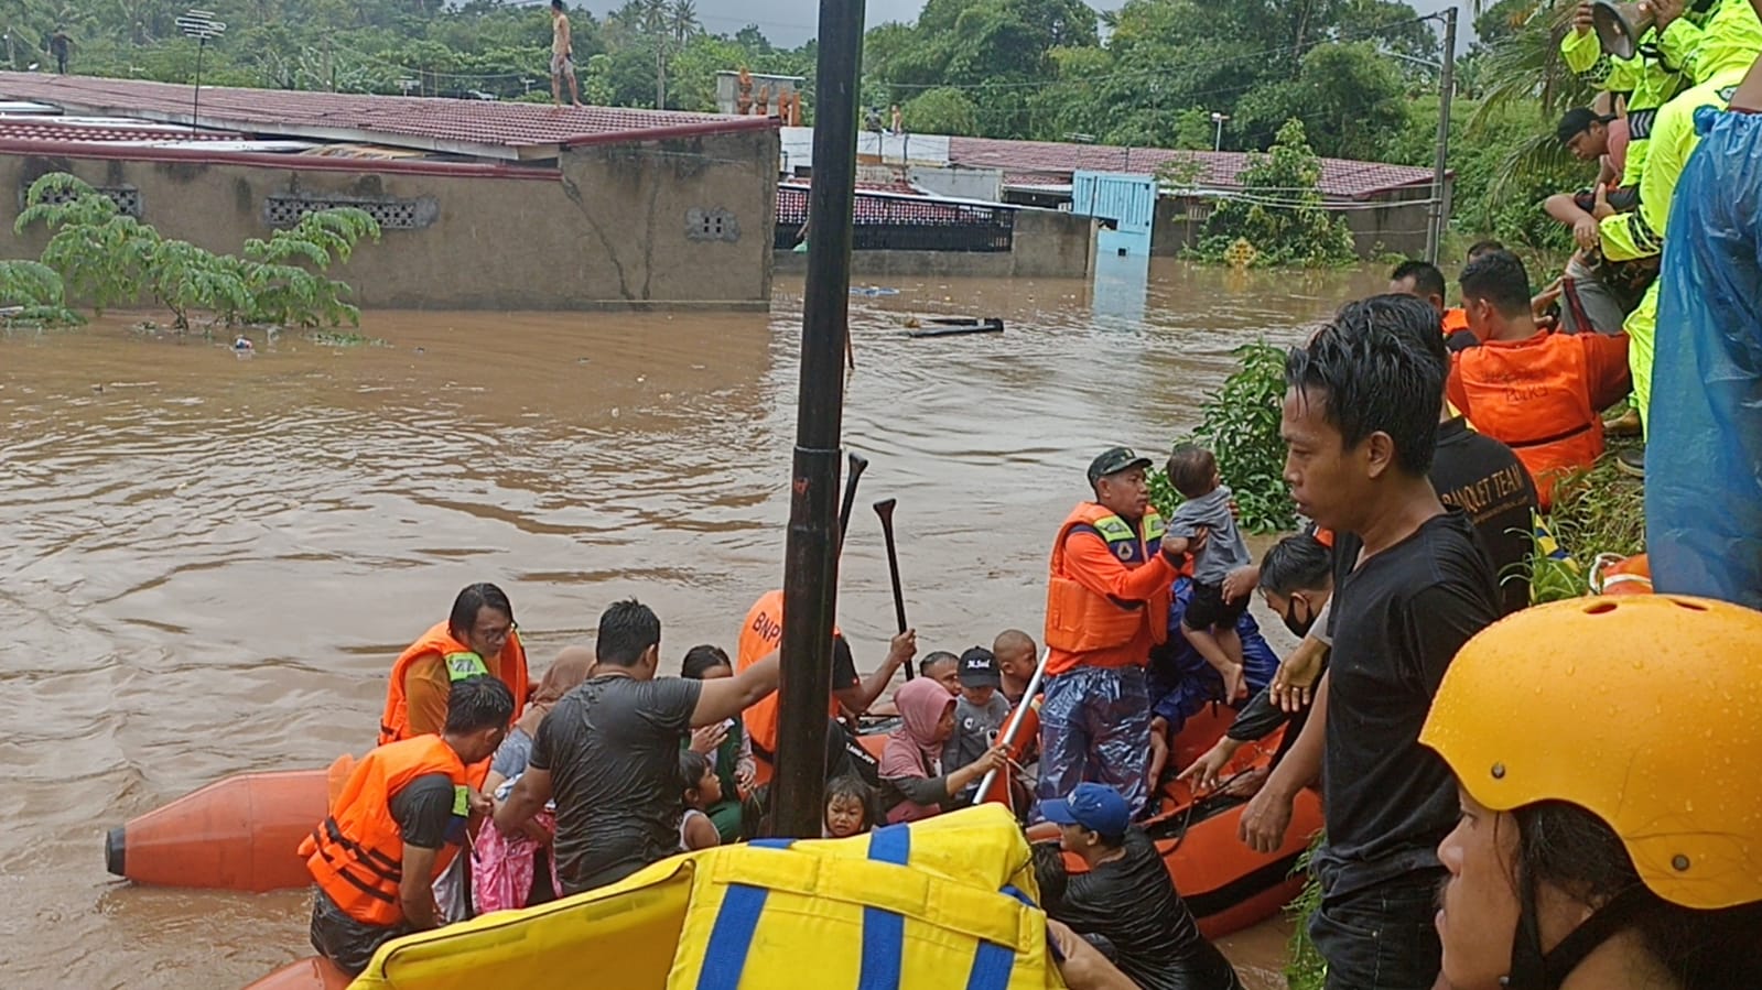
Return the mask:
M950 164L1003 169L1011 185L1064 185L1077 169L1101 173L1154 173L1168 160L1196 160L1207 188L1240 188L1237 176L1251 155L1242 151L1170 151L1165 148L1119 148L1112 144L1059 144L1052 141L1001 141L996 137L950 137ZM1431 183L1431 169L1322 159L1322 194L1362 199L1392 188Z

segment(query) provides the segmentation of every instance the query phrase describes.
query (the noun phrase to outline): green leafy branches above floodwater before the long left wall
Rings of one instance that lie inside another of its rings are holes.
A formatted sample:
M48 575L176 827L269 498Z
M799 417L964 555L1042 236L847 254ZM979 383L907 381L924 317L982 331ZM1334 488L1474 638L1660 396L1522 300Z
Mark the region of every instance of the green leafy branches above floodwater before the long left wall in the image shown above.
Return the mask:
M39 224L49 231L41 261L5 262L11 268L0 271L0 292L25 314L65 312L69 294L97 312L152 298L171 310L176 329L190 329L197 314L220 326L359 322L349 285L324 271L347 262L361 238L379 240L368 213L337 208L245 241L243 257L215 254L162 236L67 173L49 173L25 194L14 229L23 234Z

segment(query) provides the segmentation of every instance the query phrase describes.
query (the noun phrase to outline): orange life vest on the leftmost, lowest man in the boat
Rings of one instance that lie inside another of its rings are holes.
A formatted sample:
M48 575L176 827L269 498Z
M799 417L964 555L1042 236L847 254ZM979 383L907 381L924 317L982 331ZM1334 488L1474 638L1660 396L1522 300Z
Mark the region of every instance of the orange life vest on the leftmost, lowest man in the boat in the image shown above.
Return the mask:
M403 833L391 816L391 800L428 773L444 773L453 782L453 816L463 830L469 817L465 765L440 736L416 736L366 754L349 773L329 817L300 844L319 890L363 925L389 928L403 920L398 900ZM458 846L440 847L435 877L456 853Z

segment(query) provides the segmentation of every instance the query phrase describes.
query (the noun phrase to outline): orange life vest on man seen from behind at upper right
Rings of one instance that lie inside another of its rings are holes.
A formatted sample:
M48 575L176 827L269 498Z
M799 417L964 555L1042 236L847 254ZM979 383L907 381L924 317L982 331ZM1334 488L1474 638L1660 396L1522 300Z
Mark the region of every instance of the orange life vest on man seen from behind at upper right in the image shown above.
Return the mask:
M1477 432L1517 453L1536 483L1542 511L1549 511L1559 476L1591 467L1603 453L1603 421L1591 407L1584 347L1542 331L1462 351L1455 361L1455 405Z

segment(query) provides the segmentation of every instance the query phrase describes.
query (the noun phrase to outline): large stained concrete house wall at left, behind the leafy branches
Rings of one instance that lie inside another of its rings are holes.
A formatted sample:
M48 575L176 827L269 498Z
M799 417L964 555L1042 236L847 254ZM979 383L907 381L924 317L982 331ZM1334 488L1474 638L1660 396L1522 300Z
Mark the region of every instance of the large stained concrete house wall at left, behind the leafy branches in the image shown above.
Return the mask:
M104 150L123 155L127 150ZM375 173L199 160L0 155L0 222L32 180L70 171L139 190L141 218L217 252L266 238L271 196L419 201L428 220L388 229L333 268L377 308L765 308L770 305L777 136L745 130L562 153L560 176ZM708 233L707 233L708 231ZM46 234L9 250L33 257Z

